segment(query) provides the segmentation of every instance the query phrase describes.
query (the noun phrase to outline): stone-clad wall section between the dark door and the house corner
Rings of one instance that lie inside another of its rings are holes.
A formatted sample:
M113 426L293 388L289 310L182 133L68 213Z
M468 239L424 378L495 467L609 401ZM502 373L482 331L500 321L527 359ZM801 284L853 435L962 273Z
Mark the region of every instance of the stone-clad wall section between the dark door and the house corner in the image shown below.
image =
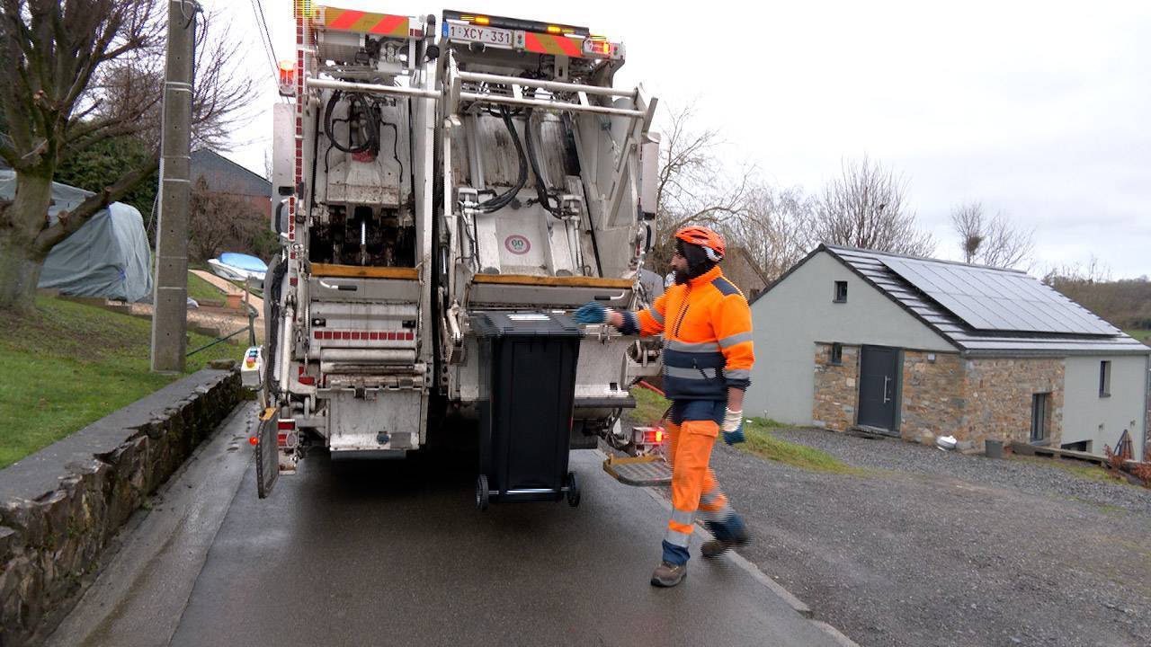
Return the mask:
M912 441L954 434L963 417L963 360L959 353L904 351L899 434Z

